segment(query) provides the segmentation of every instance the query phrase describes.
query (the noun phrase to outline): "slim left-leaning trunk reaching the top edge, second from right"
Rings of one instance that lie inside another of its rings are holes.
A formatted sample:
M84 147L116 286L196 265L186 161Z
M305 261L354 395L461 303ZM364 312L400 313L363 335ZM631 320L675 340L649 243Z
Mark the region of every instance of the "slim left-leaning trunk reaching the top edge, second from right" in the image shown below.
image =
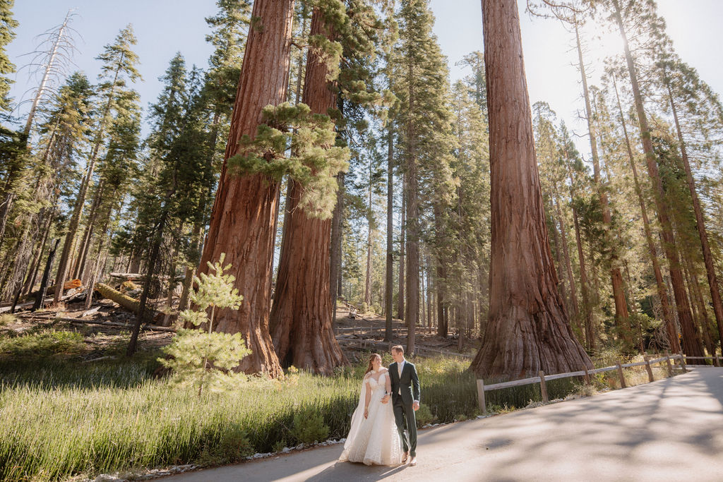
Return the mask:
M680 329L683 331L683 350L688 356L703 356L703 346L698 338L698 333L693 324L693 318L690 314L690 305L685 296L685 287L683 286L683 273L680 270L680 259L677 255L677 247L675 245L675 237L673 236L672 227L670 225L669 208L665 201L662 181L658 173L658 165L656 163L655 154L653 152L653 142L651 140L650 128L648 126L648 117L643 107L643 96L638 85L638 74L635 64L633 63L633 55L630 53L628 46L628 36L625 33L623 18L620 13L619 0L612 0L615 7L615 20L620 30L620 36L623 38L623 48L625 50L625 59L628 62L628 73L630 74L630 85L633 88L633 97L635 98L636 111L638 113L638 122L640 123L641 139L643 142L643 152L645 152L646 163L648 166L648 175L653 184L654 198L657 208L658 221L662 230L662 244L665 257L668 259L670 281L672 283L673 295L675 296L675 306L678 313L678 322Z

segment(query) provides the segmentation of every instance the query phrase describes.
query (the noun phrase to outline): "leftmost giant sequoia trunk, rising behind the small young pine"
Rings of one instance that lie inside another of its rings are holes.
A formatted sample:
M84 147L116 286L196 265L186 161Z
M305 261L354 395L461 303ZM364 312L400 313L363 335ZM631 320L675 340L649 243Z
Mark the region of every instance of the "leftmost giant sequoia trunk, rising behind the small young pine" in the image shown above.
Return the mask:
M238 151L243 134L254 136L262 121L262 109L285 100L291 51L291 22L294 0L257 0L249 29L239 88L236 91L231 130L224 158ZM218 182L213 214L199 272L208 272L208 262L226 253L233 267L236 288L244 296L238 310L216 314L215 330L240 332L252 354L239 369L281 375L281 365L268 332L270 309L273 223L278 182L259 174L234 176L224 161Z

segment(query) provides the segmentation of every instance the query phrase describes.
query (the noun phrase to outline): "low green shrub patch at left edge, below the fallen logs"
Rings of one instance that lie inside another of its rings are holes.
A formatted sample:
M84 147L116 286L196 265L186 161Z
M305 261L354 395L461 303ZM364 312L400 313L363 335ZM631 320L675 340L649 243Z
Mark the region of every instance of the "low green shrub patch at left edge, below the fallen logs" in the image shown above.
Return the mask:
M31 335L0 340L0 354L23 358L73 355L85 350L85 341L78 332L43 330Z

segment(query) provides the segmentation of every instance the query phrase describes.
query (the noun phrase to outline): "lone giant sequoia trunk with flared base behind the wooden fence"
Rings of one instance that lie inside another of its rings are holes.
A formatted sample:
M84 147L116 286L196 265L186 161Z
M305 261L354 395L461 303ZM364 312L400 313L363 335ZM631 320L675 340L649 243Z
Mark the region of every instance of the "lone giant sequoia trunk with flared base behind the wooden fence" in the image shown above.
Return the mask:
M592 368L557 292L516 0L482 0L492 181L489 322L471 369L519 378Z

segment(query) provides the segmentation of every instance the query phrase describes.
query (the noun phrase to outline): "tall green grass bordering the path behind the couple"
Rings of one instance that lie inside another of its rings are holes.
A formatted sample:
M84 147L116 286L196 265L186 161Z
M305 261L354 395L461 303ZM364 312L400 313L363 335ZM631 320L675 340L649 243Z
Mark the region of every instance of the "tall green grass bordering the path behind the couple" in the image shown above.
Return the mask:
M437 421L476 413L469 362L419 361L422 403ZM0 479L54 481L181 463L232 462L223 447L270 452L294 445L294 414L317 413L329 436L346 436L364 367L333 377L255 380L202 397L150 374L153 356L29 366L0 361ZM237 434L238 441L228 440Z

